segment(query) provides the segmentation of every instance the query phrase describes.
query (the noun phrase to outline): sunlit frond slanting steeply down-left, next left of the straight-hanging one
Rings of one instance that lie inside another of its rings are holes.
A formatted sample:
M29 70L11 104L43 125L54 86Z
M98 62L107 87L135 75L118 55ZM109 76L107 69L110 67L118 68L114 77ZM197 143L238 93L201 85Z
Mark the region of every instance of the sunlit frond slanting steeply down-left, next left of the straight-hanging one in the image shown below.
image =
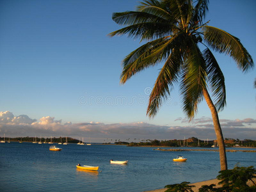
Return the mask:
M180 65L182 65L182 56L179 51L173 51L164 63L163 68L161 68L154 88L150 93L147 109L149 117L156 115L162 104L162 99L166 99L170 95L173 83L177 82Z

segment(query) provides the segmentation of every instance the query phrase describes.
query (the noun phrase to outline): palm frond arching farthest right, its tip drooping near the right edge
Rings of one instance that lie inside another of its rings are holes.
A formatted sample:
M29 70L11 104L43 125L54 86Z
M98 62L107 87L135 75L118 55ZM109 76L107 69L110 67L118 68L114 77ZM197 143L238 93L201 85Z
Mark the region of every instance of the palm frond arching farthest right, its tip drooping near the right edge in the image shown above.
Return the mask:
M239 38L232 36L212 26L202 27L204 39L214 51L225 52L230 55L237 63L237 67L246 72L254 67L252 56L243 47Z

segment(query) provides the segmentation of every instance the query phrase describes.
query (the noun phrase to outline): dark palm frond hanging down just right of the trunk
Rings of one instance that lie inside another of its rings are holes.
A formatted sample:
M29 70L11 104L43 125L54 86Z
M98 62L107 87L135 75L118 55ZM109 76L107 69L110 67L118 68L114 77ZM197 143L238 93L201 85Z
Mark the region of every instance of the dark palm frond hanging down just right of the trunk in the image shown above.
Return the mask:
M220 111L226 105L225 77L210 49L205 49L203 56L207 68L207 79L211 86L213 96L215 97L214 105L217 111Z

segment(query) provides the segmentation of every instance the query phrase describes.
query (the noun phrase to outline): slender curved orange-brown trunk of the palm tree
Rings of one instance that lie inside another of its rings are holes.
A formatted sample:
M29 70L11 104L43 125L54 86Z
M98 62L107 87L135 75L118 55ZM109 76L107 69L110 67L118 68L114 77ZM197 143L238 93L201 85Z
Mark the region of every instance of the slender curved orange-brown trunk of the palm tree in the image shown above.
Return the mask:
M215 134L216 134L216 139L217 139L218 144L219 144L220 168L221 168L221 170L227 170L228 169L228 164L227 164L225 143L224 143L221 127L220 127L220 120L219 120L218 112L217 112L217 110L216 110L216 108L215 108L207 90L204 90L204 98L205 98L205 101L207 102L208 107L211 110L212 122L213 122L213 125L214 125L214 131L215 131Z

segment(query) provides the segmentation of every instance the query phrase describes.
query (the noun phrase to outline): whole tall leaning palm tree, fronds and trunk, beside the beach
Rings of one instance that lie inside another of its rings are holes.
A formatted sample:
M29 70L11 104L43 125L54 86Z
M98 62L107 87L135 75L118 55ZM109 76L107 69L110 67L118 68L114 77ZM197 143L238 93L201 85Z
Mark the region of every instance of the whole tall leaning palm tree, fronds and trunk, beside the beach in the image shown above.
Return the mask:
M226 104L225 79L210 48L234 58L243 72L252 69L254 63L238 38L208 26L209 22L204 23L208 4L209 0L144 0L136 11L113 13L113 20L125 27L109 33L109 36L128 35L145 42L125 57L121 83L145 68L157 63L163 65L150 93L149 117L157 114L177 83L183 110L190 120L194 118L198 104L205 99L220 147L221 170L227 170L218 118L218 111Z

